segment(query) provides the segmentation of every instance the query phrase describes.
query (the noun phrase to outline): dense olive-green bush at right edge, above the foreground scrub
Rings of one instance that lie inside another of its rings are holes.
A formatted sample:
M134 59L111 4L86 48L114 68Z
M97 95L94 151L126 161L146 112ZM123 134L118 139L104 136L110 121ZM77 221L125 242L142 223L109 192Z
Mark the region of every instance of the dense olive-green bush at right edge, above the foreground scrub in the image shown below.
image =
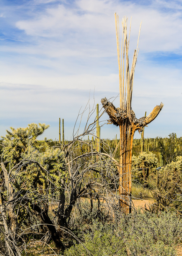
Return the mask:
M176 160L156 170L153 177L156 186L153 197L156 203L152 211L170 208L182 215L182 156L177 156Z

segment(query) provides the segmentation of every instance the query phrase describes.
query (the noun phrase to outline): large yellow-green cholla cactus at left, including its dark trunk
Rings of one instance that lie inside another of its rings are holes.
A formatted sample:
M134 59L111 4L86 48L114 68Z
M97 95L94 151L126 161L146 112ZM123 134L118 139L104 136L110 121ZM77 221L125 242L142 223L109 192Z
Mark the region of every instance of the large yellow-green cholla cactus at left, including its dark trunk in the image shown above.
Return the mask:
M49 142L52 140L37 140L48 127L46 124L38 126L34 123L26 128L11 127L11 132L7 131L3 137L1 169L4 180L1 176L0 203L2 205L3 198L7 205L3 209L3 223L5 237L9 235L13 238L8 240L7 245L14 250L11 255L20 255L14 247L18 229L21 230L25 223L31 223L31 214L42 214L45 223L53 226L47 214L49 202L61 195L62 180L66 178L67 172L64 152L51 147ZM6 216L9 216L9 223ZM52 230L51 236L56 246L62 246L56 229L49 230Z

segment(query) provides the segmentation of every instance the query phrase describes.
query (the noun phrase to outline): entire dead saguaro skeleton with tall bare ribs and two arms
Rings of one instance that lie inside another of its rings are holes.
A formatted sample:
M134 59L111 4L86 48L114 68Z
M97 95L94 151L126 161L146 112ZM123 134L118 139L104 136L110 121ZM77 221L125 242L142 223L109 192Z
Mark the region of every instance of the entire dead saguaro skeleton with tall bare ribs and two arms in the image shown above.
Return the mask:
M109 124L114 124L120 127L120 180L119 180L119 193L120 204L123 209L123 213L127 214L131 212L131 160L132 160L132 146L133 137L135 131L142 132L143 127L152 122L164 104L161 102L159 106L156 106L148 116L143 116L140 119L135 117L135 113L131 108L132 91L135 65L138 55L138 43L137 48L134 50L131 71L129 70L128 60L128 46L129 37L127 39L127 18L122 20L122 42L121 42L121 58L120 58L120 44L119 44L119 17L115 13L116 23L116 39L118 50L118 64L119 64L119 76L120 76L120 108L115 108L113 103L109 102L106 98L101 102L106 109L110 119ZM142 24L142 23L141 23ZM140 29L141 29L140 24ZM131 28L131 23L130 23ZM130 31L129 31L130 36ZM140 36L140 30L139 30ZM138 41L139 41L138 36ZM125 62L126 60L126 62ZM124 65L124 62L126 63Z

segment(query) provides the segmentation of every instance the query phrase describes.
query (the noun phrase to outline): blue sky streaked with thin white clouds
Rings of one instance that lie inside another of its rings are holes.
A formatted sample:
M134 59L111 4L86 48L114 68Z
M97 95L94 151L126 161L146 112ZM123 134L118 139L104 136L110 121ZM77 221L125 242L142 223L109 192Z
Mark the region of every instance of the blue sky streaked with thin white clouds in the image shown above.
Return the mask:
M69 140L88 101L91 108L98 103L101 109L100 100L106 97L119 107L115 12L120 24L122 17L132 17L130 64L142 21L132 96L136 117L164 103L144 136L182 136L181 0L1 0L1 136L11 126L46 123L50 128L42 138L55 140L59 118L64 118ZM87 115L88 110L80 133ZM119 137L114 125L101 127L101 138L116 134ZM140 138L138 132L135 138Z

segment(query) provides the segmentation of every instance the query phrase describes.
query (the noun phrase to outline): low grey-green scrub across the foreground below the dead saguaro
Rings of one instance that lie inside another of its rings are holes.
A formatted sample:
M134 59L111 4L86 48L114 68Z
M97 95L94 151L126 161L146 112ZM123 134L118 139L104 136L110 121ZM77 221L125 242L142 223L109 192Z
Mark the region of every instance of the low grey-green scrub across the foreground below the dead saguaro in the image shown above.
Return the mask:
M175 256L182 236L182 220L174 212L134 212L118 225L97 220L84 231L82 244L65 251L65 256ZM89 252L88 252L89 251Z

